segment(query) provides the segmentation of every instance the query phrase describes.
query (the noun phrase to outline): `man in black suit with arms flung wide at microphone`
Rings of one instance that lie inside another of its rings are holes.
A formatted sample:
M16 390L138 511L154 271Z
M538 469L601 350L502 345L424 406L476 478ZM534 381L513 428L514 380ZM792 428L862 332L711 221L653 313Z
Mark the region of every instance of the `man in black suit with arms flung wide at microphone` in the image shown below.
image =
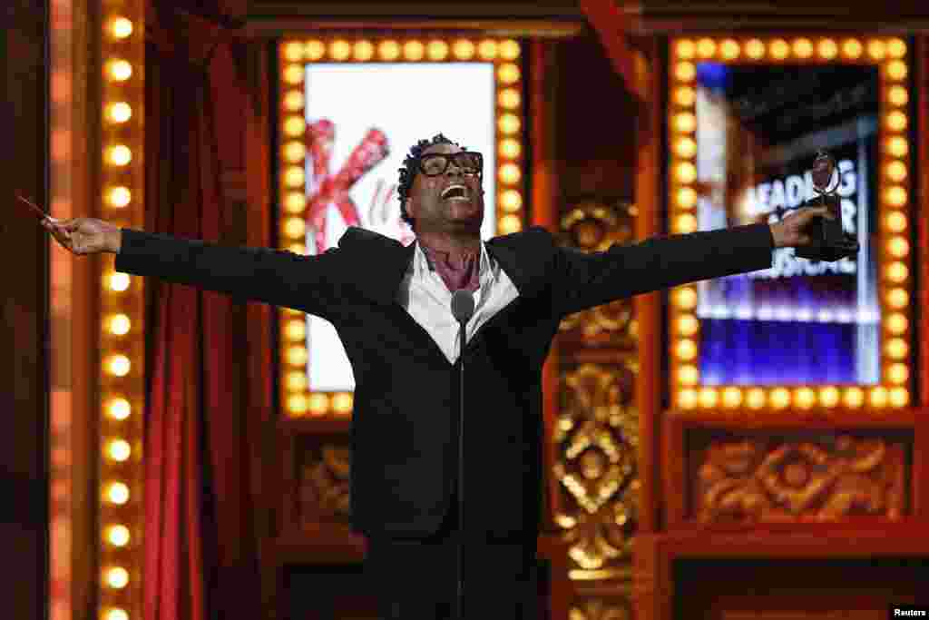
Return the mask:
M471 292L464 442L464 610L534 618L543 480L542 366L567 315L621 297L770 267L775 247L811 243L825 207L767 225L701 231L586 254L539 227L482 242L478 153L438 135L400 170L404 247L350 228L320 256L234 248L76 218L44 225L76 254L117 254L116 269L334 324L356 381L351 521L385 618L454 615L461 343L451 294Z

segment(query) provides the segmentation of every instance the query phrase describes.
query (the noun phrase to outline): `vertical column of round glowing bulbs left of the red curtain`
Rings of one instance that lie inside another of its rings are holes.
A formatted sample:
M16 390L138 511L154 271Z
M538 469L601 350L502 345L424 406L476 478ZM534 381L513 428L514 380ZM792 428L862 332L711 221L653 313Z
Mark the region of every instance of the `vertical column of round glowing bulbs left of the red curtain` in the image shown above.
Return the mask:
M111 7L117 11L129 12L128 6ZM137 27L138 21L127 17L125 14L112 15L110 19L105 20L104 25L104 53L109 56L103 63L104 70L104 105L103 121L105 123L104 139L109 137L124 135L124 130L128 127L130 121L134 118L137 125L132 127L132 136L136 138L134 144L126 144L124 139L112 138L111 143L105 144L103 148L103 159L107 165L103 171L103 203L106 207L113 209L113 213L120 218L128 218L127 209L136 208L133 191L127 187L121 178L130 178L129 166L140 166L141 162L137 161L137 151L140 152L141 140L137 139L141 135L139 131L141 125L139 111L133 109L133 105L120 95L125 92L124 86L129 86L133 77L136 77L137 67L134 62L138 62L144 47L138 40L138 33L141 28ZM136 38L130 40L129 37L136 34ZM107 49L109 44L110 48ZM132 57L129 59L127 57ZM135 85L133 85L135 86ZM138 91L139 89L135 89ZM112 181L112 182L111 182ZM128 505L134 491L130 488L129 481L122 480L120 473L128 471L127 464L140 462L140 449L137 440L133 437L134 430L127 426L130 416L133 414L133 405L130 400L136 400L139 394L131 393L137 391L140 383L140 372L134 369L133 363L128 354L128 350L140 335L140 317L134 319L122 308L138 308L137 303L131 303L129 298L124 294L137 297L140 293L137 290L130 291L132 279L128 274L117 271L109 271L102 278L105 297L103 300L104 308L117 309L111 311L104 317L101 323L103 332L102 343L103 352L103 377L101 383L106 386L112 384L118 379L125 379L128 383L120 383L124 393L111 393L107 399L101 403L104 416L108 423L104 428L120 429L109 437L101 438L102 455L105 462L111 464L101 469L104 482L100 488L100 500L104 504L101 510L102 526L101 538L104 547L100 549L101 560L101 591L100 596L100 617L102 620L131 620L139 613L134 601L129 600L123 594L125 588L130 582L130 567L121 565L118 561L109 561L107 558L107 548L124 549L133 543L133 531L136 529L131 524L124 522L124 518L115 517L121 514L114 512L119 508ZM107 347L107 343L112 343ZM136 342L137 344L137 342ZM107 351L107 349L110 349ZM135 370L135 374L132 373ZM132 387L130 387L132 386ZM137 422L137 421L136 421ZM137 424L135 425L137 426ZM107 431L105 431L107 432ZM131 467L131 465L130 465ZM110 516L113 515L111 519ZM124 557L124 556L123 556ZM116 601L119 601L116 603Z

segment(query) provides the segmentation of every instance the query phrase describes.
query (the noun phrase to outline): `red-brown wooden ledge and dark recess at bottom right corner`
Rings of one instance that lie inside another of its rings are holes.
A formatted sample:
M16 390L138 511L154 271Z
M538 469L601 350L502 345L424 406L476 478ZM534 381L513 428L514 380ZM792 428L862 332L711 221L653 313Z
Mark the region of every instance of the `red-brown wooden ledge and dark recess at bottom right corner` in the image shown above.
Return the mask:
M889 602L898 596L899 602L908 603L921 592L929 559L929 528L924 522L907 519L892 529L818 523L807 524L804 530L798 532L795 525L784 523L743 532L708 531L700 525L654 536L647 564L660 594L649 608L639 610L645 613L640 617L742 620L753 613L753 617L813 619L830 617L816 613L831 606L839 614L831 617L876 620L883 616L873 615L875 601ZM819 570L811 568L814 562L819 562ZM905 571L890 572L895 563ZM699 579L682 574L682 565L698 567ZM872 614L845 615L862 611L849 609L849 603L864 605L864 611L870 606ZM689 613L675 615L682 608ZM711 613L700 615L707 610Z

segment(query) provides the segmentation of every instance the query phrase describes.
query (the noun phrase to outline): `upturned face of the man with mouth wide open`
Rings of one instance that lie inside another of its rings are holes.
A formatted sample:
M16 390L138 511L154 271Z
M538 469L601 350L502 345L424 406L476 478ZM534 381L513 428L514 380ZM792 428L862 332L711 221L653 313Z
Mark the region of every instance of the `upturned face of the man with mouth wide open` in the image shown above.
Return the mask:
M423 154L461 151L461 147L454 144L434 144ZM454 160L436 177L427 177L421 170L413 179L407 212L416 220L417 233L474 231L479 234L484 219L481 177L465 173Z

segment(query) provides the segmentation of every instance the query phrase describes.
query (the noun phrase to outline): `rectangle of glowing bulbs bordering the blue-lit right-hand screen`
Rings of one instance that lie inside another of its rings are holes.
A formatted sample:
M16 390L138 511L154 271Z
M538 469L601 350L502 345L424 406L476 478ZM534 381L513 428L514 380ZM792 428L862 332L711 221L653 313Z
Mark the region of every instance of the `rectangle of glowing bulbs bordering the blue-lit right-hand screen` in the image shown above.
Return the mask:
M909 127L906 106L909 103L907 85L903 83L909 73L906 62L907 44L902 39L878 38L860 39L848 37L841 40L831 37L810 39L796 37L791 40L773 38L723 38L703 37L700 39L680 39L674 41L673 71L671 79L671 152L673 162L671 176L674 181L670 199L672 206L671 226L674 232L686 233L698 229L696 215L697 167L694 158L697 154L697 116L694 110L697 91L695 79L697 67L695 62L702 60L801 60L809 62L830 61L832 59L862 60L880 62L883 116L882 149L883 159L881 173L886 188L880 195L881 200L881 238L883 240L884 263L882 275L881 303L885 320L883 321L883 361L887 368L885 376L889 383L905 383L909 378L909 215L906 211L909 203L909 139L904 132ZM697 290L693 286L677 288L673 295L674 339L671 353L675 361L674 376L678 384L677 402L680 406L714 407L738 406L744 402L752 407L770 406L780 408L794 405L804 408L819 403L821 406L834 406L840 402L849 407L861 406L869 402L871 406L883 407L905 406L909 402L906 388L896 385L890 388L878 387L861 391L847 389L840 400L831 388L819 389L753 389L744 391L738 388L698 389L699 382L696 366L692 365L698 354L697 338L700 336L700 322L694 314L697 306ZM728 396L726 396L728 395ZM811 396L812 395L812 396ZM867 396L867 398L866 398Z

